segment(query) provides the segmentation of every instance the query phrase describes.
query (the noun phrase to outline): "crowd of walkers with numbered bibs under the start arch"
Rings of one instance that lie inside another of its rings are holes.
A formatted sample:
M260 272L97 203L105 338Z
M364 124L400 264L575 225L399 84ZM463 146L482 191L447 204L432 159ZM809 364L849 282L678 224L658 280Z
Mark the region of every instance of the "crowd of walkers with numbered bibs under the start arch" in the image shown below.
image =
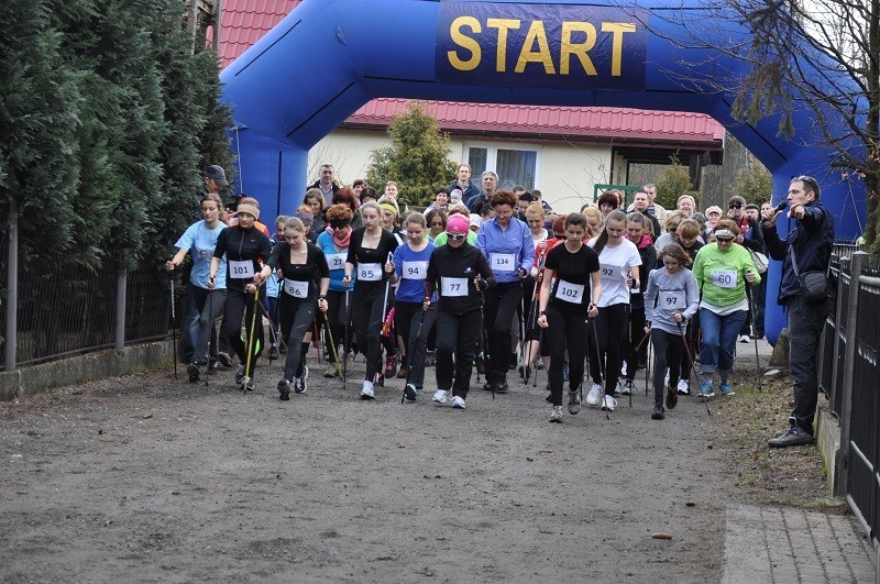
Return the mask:
M493 396L514 390L510 371L528 383L542 368L549 420L561 422L564 387L570 415L587 375L586 405L613 411L652 353L651 418L663 419L692 390L733 396L737 343L763 335L762 254L780 246L765 243L761 225L780 213L769 202L733 197L722 217L683 195L667 210L645 185L560 216L537 189L499 188L488 170L477 185L463 164L420 212L394 181L382 194L363 180L341 187L323 165L270 233L258 201L223 201L226 185L222 168L206 170L202 220L166 263L193 260L182 352L194 383L238 362L235 383L253 389L265 319L268 357L284 359L282 400L306 392L315 346L323 375L346 385L363 355L364 400L397 377L402 400L432 386L435 403L464 409L474 367Z

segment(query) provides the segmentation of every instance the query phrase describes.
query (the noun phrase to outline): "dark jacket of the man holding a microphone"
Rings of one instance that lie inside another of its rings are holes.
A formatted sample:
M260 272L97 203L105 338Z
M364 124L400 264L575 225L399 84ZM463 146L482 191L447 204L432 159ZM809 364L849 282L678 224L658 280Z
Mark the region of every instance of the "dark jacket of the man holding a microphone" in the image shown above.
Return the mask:
M770 257L782 261L782 278L779 283L777 302L784 306L790 298L801 294L801 283L794 275L789 246L794 249L801 274L825 272L832 261L834 217L822 202L809 202L804 206L804 218L795 221L794 229L789 232L784 241L779 239L777 223L763 224L763 243Z

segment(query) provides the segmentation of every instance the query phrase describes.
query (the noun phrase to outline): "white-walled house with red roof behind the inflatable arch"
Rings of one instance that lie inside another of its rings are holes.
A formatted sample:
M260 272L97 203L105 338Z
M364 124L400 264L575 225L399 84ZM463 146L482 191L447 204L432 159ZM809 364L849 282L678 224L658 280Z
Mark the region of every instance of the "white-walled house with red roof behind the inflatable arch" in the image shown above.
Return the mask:
M224 0L219 19L221 66L300 1ZM546 201L566 212L592 201L596 184L628 184L634 164L668 164L674 154L690 166L698 185L701 167L721 164L724 153L724 128L702 113L450 101L427 101L425 107L450 136L450 158L470 164L475 181L483 170L495 170L502 187L539 188ZM363 178L370 153L391 143L386 130L407 108L405 99L364 104L311 148L309 176L317 179L320 165L332 164L344 184ZM406 195L406 185L402 192Z

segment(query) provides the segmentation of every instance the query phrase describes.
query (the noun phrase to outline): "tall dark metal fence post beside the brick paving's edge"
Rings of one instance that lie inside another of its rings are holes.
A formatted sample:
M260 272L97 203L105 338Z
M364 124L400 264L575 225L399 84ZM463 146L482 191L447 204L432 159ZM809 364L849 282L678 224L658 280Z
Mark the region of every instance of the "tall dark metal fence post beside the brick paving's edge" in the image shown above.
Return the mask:
M847 342L844 350L844 383L840 392L840 453L837 456L837 484L835 494L845 497L849 482L849 433L853 417L853 367L856 360L856 345L858 344L856 327L859 307L859 277L868 262L868 254L855 252L849 261L849 311L846 316ZM850 372L850 373L846 373Z

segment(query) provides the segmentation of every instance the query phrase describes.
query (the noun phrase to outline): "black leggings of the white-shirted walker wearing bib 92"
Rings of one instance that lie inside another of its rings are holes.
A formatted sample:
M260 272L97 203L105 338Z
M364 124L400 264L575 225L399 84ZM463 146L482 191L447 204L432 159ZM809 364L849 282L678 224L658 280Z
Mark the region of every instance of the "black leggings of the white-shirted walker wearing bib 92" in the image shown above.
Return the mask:
M593 383L602 384L605 375L605 395L612 397L617 393L617 379L620 377L620 350L624 335L629 327L629 305L620 302L598 309L593 322L587 322L590 334L590 376ZM598 334L598 339L596 339ZM596 354L598 353L598 354ZM552 357L550 363L552 365Z

